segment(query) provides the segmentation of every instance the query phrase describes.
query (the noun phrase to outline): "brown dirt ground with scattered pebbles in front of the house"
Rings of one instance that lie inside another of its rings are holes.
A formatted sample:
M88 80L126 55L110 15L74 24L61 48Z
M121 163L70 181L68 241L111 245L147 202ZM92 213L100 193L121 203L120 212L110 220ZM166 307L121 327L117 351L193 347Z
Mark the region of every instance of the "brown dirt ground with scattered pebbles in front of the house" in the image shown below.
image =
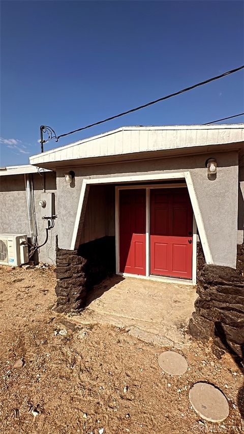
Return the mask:
M189 365L163 373L157 355L126 329L79 325L54 312L51 270L0 268L0 432L171 434L241 432L242 374L209 344L178 350ZM22 367L14 364L22 359ZM188 394L197 381L218 386L229 401L221 423L204 422Z

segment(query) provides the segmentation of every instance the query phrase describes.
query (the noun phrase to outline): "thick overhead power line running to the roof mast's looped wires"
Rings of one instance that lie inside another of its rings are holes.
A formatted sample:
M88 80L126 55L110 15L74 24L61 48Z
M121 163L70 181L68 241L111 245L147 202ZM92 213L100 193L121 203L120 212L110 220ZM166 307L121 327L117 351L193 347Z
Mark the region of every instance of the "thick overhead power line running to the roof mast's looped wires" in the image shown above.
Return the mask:
M223 74L208 78L207 80L201 81L200 83L193 84L192 86L189 86L188 88L181 89L180 91L174 92L173 94L166 95L162 98L158 98L158 99L156 99L154 101L150 101L146 104L139 105L138 107L131 108L130 110L123 111L119 114L115 114L114 116L111 116L110 118L103 119L102 121L95 122L94 124L89 124L89 125L86 125L85 127L78 128L77 130L73 130L73 131L69 131L68 133L60 134L59 136L56 135L56 133L53 131L52 128L50 128L46 125L42 125L40 128L41 129L41 140L40 140L41 146L43 148L43 143L45 143L45 141L47 141L47 140L44 140L42 137L43 132L48 133L48 140L50 140L51 138L55 138L56 141L58 141L58 139L61 137L65 137L65 136L68 136L70 134L77 133L78 131L86 130L87 128L95 127L96 125L104 124L105 122L112 121L113 119L116 119L116 118L120 118L121 116L124 116L125 114L133 113L134 111L140 110L140 109L145 108L145 107L149 107L150 105L156 104L157 102L160 102L160 101L165 101L166 99L175 97L177 95L191 91L192 89L198 88L199 86L202 86L203 84L207 84L207 83L210 83L211 81L218 80L219 78L226 77L227 75L230 75L230 74L233 74L234 72L240 71L243 68L244 68L244 65L239 66L238 68L231 69L230 71L226 71Z

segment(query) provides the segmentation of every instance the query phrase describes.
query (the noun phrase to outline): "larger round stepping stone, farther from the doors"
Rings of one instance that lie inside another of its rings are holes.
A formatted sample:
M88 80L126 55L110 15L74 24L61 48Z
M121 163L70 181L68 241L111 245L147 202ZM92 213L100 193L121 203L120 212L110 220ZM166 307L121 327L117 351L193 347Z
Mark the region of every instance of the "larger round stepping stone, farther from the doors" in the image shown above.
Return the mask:
M189 399L195 412L205 420L221 422L229 416L229 404L225 395L211 384L194 384Z

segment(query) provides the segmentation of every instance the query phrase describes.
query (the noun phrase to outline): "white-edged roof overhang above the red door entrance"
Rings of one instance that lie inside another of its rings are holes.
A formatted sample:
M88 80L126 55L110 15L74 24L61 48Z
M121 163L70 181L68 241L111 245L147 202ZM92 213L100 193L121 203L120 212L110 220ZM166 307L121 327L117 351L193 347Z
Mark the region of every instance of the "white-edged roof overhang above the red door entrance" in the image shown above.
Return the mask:
M132 154L221 146L244 140L244 124L134 126L88 137L30 157L31 164L55 168L65 164L92 164L95 160L122 161ZM149 156L149 155L148 155ZM154 155L155 157L156 155ZM116 157L116 158L114 158Z

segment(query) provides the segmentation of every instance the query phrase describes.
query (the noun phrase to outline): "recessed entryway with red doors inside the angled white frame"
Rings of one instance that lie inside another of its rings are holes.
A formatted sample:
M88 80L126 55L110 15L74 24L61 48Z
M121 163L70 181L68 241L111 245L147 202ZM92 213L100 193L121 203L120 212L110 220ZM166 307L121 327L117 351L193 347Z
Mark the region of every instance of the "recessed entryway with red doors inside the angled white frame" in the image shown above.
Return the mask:
M183 180L90 185L87 196L79 250L92 243L88 250L96 261L89 274L95 276L103 264L104 277L114 270L125 277L195 284L197 229Z

